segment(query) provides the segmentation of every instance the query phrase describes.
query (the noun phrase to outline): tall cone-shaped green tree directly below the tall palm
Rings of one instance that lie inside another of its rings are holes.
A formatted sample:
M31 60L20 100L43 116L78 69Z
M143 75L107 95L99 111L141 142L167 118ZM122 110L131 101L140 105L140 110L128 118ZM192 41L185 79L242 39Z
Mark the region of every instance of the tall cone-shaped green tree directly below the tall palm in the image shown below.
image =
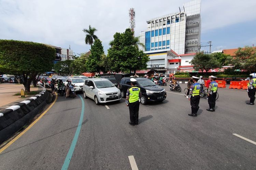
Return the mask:
M101 65L101 57L104 54L103 46L99 39L94 41L91 46L91 54L86 61L86 69L89 72L100 72L103 71L104 67Z

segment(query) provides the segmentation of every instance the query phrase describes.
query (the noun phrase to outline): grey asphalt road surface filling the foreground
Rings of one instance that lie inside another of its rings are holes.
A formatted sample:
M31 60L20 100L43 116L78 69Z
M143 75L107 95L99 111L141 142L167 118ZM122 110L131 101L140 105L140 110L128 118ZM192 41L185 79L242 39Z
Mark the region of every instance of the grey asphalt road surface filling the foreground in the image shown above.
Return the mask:
M219 88L216 111L206 111L208 102L201 99L198 116L190 117L182 92L165 88L165 101L140 105L137 126L128 124L125 99L108 109L91 99L58 97L0 153L0 169L131 169L131 155L143 170L256 169L256 145L233 135L256 141L256 105L245 104L246 90Z

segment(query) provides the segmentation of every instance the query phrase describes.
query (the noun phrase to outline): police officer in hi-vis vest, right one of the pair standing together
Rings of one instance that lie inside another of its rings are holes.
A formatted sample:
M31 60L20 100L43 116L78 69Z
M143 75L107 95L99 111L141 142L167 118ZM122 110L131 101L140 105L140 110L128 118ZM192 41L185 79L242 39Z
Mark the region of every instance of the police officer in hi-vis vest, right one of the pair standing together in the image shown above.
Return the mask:
M210 112L215 112L215 101L216 101L216 95L217 95L217 90L218 90L218 83L215 81L217 77L211 75L211 83L209 84L207 96L208 96L208 104L209 107L206 109L207 111Z

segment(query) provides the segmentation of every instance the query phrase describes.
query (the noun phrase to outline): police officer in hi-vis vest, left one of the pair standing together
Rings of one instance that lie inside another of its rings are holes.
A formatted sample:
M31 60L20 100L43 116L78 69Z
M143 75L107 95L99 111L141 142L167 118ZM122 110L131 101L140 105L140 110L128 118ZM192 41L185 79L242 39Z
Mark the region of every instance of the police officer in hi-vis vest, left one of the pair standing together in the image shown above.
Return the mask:
M200 90L201 85L197 83L199 80L198 77L192 76L193 84L190 86L188 100L190 100L191 105L191 114L189 116L197 116L197 111L199 109L199 101L200 101Z

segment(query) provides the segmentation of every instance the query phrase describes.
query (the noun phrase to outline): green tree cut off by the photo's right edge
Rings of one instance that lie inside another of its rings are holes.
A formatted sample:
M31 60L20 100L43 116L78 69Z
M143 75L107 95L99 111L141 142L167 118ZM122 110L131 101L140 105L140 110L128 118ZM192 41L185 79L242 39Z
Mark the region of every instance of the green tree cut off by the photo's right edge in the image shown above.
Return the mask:
M237 57L231 60L231 63L236 69L248 70L250 73L256 72L256 48L245 47L238 48L235 52Z

